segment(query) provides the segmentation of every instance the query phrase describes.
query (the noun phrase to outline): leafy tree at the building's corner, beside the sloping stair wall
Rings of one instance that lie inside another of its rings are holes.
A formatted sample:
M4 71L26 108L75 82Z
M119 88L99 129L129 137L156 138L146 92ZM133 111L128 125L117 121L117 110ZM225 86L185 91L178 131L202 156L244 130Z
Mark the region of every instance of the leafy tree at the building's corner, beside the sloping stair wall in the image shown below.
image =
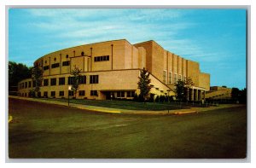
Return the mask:
M143 67L140 71L139 82L137 83L138 89L140 90L140 96L143 98L145 102L146 98L148 97L148 93L153 87L150 85L151 80L149 79L149 72Z

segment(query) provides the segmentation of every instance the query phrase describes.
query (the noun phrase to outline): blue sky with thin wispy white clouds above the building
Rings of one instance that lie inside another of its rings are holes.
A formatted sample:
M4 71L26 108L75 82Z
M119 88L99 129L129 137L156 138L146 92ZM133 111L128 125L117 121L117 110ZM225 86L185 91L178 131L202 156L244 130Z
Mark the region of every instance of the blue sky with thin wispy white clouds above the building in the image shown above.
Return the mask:
M9 61L32 66L59 49L113 39L154 40L211 74L246 87L245 9L9 9Z

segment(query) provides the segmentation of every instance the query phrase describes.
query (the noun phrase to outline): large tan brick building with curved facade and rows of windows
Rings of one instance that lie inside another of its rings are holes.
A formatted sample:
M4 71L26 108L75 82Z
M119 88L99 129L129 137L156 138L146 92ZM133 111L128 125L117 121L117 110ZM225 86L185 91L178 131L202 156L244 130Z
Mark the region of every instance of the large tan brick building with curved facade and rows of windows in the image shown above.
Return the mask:
M174 96L178 79L192 78L195 85L189 89L190 101L200 101L210 88L210 75L200 71L199 63L163 49L153 40L131 44L125 39L90 43L61 49L44 55L34 62L43 69L43 84L38 96L67 98L73 96L68 86L73 83L70 72L74 67L82 70L82 84L77 98L131 99L137 89L140 69L150 72L150 93ZM29 96L32 79L18 84L19 96Z

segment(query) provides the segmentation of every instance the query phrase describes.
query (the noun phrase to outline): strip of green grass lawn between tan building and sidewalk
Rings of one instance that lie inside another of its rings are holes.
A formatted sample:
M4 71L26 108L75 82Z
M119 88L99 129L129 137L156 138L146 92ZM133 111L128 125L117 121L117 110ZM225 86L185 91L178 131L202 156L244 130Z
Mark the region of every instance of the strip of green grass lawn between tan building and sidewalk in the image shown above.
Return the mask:
M50 101L61 101L67 102L67 99L45 99ZM98 107L111 107L111 108L119 108L119 109L128 109L128 110L153 110L153 111L160 111L160 110L175 110L181 108L189 108L185 106L180 106L179 103L175 102L163 102L163 103L156 103L156 102L137 102L137 101L108 101L108 100L84 100L84 99L70 99L70 103L75 104L84 104L89 106L98 106ZM183 103L184 105L185 103Z

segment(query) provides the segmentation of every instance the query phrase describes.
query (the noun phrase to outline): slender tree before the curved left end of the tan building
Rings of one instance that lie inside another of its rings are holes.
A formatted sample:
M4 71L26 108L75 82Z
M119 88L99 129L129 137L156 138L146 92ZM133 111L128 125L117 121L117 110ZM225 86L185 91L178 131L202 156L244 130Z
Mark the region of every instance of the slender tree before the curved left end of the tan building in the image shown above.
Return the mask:
M33 90L35 94L32 94L32 96L38 96L38 92L40 91L40 87L42 86L43 82L43 70L38 65L35 65L32 67L32 85Z

